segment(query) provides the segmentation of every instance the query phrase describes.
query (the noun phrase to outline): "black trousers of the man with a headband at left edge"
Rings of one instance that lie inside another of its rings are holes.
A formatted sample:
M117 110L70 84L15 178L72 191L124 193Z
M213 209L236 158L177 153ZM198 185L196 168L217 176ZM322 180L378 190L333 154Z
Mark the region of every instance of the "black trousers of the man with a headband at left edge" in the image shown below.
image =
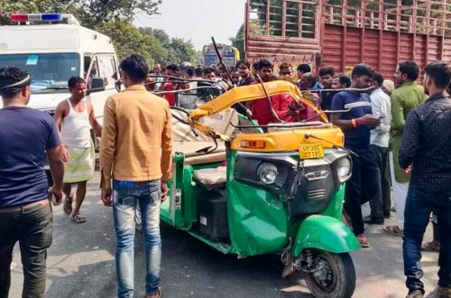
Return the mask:
M43 297L51 231L52 212L48 203L0 210L0 298L8 297L11 285L10 266L17 241L23 265L22 297Z

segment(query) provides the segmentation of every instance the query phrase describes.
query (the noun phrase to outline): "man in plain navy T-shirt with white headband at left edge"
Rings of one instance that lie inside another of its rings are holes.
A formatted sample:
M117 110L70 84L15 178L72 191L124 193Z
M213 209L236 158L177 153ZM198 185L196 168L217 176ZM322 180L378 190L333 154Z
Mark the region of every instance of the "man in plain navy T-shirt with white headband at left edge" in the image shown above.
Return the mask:
M0 69L0 297L8 297L11 262L17 241L23 263L23 297L42 297L47 248L51 246L49 184L44 172L47 152L60 203L64 172L60 137L53 118L26 107L32 78L25 71Z

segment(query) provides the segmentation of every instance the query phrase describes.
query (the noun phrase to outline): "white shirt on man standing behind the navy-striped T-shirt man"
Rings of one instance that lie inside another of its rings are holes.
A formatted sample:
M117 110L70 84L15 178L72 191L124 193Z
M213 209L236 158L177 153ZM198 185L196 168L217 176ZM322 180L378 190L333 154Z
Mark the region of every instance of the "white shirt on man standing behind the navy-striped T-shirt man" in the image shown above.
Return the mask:
M382 116L381 125L371 131L370 144L387 148L390 141L391 101L390 97L377 88L370 95L374 116Z

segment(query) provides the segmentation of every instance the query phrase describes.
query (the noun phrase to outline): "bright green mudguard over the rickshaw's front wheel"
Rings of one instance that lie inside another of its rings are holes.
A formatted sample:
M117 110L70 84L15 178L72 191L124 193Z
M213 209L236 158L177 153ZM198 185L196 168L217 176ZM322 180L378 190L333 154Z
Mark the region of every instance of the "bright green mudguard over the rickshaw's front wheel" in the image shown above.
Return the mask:
M360 248L354 233L343 222L324 215L311 215L302 221L292 256L299 256L305 248L318 248L331 253L345 253Z

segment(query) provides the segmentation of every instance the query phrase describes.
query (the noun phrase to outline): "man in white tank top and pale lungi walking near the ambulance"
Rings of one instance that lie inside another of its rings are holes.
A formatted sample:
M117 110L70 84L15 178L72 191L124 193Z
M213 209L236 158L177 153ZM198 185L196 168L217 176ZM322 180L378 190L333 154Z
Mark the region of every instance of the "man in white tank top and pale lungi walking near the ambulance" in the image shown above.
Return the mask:
M60 129L62 142L62 159L64 166L65 194L63 210L72 214L75 223L84 223L86 219L79 215L79 210L87 191L87 181L94 173L94 144L91 141L91 127L100 136L102 126L97 123L94 108L85 99L86 83L80 77L68 80L70 98L61 101L55 112L55 123ZM75 208L72 209L72 184L77 183Z

